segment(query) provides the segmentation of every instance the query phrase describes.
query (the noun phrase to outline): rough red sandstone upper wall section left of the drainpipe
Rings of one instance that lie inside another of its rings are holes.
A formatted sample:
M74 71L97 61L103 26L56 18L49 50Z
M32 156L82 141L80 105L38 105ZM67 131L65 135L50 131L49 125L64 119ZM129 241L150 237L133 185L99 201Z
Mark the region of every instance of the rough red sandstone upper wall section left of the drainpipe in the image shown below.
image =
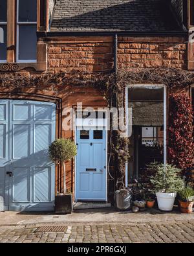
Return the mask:
M113 38L63 38L47 48L48 71L110 71L113 68Z

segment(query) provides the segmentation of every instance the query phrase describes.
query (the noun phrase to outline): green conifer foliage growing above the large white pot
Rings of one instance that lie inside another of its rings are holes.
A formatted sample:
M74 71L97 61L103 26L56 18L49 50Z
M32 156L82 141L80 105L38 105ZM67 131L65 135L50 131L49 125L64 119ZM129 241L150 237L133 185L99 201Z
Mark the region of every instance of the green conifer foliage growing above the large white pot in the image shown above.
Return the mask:
M150 179L153 191L166 193L179 191L184 186L184 181L180 178L180 171L173 165L156 165L156 174Z

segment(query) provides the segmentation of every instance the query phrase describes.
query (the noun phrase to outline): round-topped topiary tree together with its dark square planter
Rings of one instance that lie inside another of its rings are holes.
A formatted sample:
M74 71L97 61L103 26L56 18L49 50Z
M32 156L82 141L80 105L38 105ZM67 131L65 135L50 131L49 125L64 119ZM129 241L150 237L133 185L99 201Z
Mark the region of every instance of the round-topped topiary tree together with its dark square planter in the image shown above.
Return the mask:
M65 161L76 156L77 148L70 139L56 139L48 149L50 159L63 165L63 193L55 198L56 213L72 213L72 194L67 194Z

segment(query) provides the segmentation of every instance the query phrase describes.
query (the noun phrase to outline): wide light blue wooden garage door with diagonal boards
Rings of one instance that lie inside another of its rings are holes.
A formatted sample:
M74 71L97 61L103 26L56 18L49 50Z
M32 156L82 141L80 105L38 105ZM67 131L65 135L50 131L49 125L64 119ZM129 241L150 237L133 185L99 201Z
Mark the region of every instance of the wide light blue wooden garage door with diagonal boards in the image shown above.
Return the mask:
M0 210L54 209L56 105L0 100Z

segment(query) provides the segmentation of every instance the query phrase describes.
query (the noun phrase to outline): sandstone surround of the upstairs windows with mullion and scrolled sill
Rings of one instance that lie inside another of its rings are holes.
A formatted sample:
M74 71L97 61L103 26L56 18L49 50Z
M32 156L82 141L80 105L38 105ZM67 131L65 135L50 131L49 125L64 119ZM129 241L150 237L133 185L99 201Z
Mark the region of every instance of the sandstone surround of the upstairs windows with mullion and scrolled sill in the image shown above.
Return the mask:
M0 0L1 1L1 0ZM41 5L41 3L45 5ZM45 9L44 9L45 8ZM29 67L36 71L47 70L47 43L38 41L36 43L36 62L33 60L18 60L16 51L17 45L17 1L7 0L7 21L6 21L6 60L0 60L1 71L20 71ZM48 30L48 0L37 0L37 31ZM46 16L46 17L45 17ZM8 64L8 65L7 65ZM16 65L15 65L16 64Z

